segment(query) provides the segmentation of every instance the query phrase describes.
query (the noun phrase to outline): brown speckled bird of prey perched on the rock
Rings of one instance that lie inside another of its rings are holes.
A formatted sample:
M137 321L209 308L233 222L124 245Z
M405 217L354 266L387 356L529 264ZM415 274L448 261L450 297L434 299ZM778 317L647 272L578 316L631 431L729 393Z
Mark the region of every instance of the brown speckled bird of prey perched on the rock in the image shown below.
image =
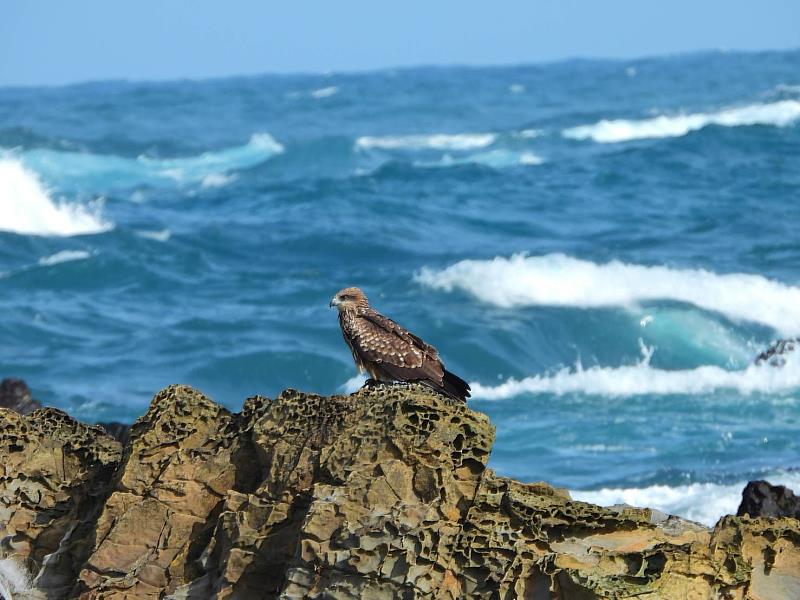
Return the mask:
M444 368L436 348L373 309L360 289L337 292L330 306L339 310L344 341L362 373L376 381L422 383L463 402L469 398L469 385Z

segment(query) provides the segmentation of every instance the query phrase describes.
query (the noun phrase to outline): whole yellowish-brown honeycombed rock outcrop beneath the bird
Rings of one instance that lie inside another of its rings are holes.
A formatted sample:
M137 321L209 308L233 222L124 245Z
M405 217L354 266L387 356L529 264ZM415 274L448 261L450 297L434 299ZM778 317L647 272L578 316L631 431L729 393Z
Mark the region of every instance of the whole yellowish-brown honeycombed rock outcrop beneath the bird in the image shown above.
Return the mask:
M173 386L122 457L52 409L1 416L0 536L40 598L800 598L797 520L707 529L499 477L488 419L420 386L239 414Z

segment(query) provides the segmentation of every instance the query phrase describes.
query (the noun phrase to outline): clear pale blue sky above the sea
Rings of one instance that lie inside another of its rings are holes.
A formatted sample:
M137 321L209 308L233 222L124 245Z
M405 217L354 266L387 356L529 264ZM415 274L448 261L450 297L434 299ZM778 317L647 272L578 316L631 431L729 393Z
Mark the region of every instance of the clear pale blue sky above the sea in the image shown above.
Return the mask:
M0 85L800 47L800 0L3 0Z

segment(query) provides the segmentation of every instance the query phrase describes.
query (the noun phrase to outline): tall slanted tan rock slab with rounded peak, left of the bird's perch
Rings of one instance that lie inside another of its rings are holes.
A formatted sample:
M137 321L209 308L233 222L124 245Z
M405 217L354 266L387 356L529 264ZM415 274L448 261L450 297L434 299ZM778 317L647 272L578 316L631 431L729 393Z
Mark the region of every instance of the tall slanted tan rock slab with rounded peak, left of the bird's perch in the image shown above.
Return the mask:
M82 597L157 598L202 574L222 501L253 471L239 420L185 386L156 396L131 429L80 574Z

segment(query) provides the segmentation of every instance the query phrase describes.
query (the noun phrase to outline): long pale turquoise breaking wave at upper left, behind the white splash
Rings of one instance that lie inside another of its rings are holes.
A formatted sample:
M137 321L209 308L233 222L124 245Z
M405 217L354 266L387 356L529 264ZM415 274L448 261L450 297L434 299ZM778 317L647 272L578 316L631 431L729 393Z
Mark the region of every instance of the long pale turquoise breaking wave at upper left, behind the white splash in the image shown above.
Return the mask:
M226 174L261 164L281 154L284 147L267 133L258 133L243 146L205 152L185 158L127 158L114 155L27 150L19 159L46 181L80 189L125 188L137 185L201 183L225 185Z

